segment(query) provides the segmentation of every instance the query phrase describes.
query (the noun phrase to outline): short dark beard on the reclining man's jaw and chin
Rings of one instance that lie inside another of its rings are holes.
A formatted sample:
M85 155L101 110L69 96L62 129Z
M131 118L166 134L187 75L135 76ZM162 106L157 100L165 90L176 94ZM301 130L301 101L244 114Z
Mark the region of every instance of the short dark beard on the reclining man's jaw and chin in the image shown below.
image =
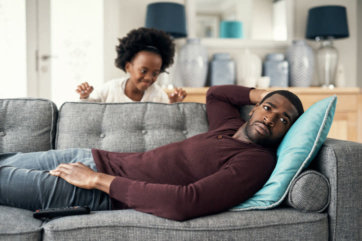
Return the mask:
M250 118L251 118L251 116L250 116ZM253 143L259 144L259 145L265 146L265 147L276 147L277 145L279 145L279 143L283 139L283 137L278 137L276 139L271 139L270 136L261 137L260 134L255 130L255 128L253 128L252 124L250 124L249 122L250 122L250 119L246 122L244 133L247 136L247 138L250 141L252 141ZM253 124L256 122L263 123L261 121L254 121ZM268 128L269 134L271 135L270 128L267 125L266 125L266 127Z

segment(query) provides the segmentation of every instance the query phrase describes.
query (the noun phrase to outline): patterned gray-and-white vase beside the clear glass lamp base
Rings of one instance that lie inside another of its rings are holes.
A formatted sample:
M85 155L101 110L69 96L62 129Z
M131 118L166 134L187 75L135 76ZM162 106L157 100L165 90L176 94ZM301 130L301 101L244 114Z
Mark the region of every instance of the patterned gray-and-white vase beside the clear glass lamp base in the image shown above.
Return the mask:
M314 56L305 40L292 42L286 50L286 60L289 64L289 85L309 87L314 71Z

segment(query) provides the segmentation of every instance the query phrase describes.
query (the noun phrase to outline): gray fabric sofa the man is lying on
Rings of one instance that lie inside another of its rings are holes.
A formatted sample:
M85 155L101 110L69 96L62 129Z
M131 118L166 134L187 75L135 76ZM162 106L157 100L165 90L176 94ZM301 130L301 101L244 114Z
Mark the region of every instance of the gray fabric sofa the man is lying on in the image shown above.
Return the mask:
M0 100L0 153L147 151L207 127L199 103L67 102L58 110L45 99ZM361 197L362 144L327 138L285 202L271 210L225 211L184 222L116 210L43 222L31 211L0 205L0 240L362 240Z

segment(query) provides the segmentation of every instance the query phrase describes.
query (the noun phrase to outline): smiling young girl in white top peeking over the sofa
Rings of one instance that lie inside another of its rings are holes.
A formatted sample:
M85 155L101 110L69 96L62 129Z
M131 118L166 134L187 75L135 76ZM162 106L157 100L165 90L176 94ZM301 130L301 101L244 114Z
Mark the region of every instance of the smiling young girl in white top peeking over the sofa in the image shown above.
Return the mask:
M174 43L170 36L155 28L140 27L118 39L115 66L129 77L112 79L104 83L99 93L93 87L81 83L75 90L81 101L93 102L180 102L186 97L182 88L174 88L168 96L157 84L158 75L173 63Z

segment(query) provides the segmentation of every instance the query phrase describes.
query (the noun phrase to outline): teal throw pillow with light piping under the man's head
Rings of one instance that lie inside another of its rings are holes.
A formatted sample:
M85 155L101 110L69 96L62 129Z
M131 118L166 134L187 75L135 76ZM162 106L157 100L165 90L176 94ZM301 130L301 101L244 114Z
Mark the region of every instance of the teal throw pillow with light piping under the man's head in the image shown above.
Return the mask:
M276 151L276 166L265 185L230 211L262 210L278 206L290 184L314 159L333 121L337 96L310 106L291 126Z

